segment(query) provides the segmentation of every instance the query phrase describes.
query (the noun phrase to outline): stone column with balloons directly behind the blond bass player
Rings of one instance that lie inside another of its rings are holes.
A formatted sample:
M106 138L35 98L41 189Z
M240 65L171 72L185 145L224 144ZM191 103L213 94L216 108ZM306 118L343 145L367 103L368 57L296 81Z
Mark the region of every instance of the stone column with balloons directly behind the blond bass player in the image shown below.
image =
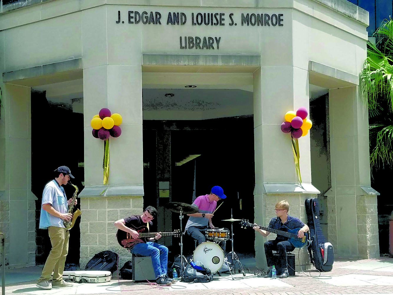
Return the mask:
M268 226L270 219L275 217L275 204L284 199L290 204L289 214L307 223L305 199L319 193L311 185L309 135L299 139L302 188L297 183L290 135L280 130L285 112L300 106L309 107L307 70L293 66L263 66L254 72L254 199L255 222L259 225ZM266 267L263 243L274 238L274 234L267 238L256 235L257 266ZM298 256L298 251L294 253ZM307 250L302 249L300 253L301 264L305 265Z

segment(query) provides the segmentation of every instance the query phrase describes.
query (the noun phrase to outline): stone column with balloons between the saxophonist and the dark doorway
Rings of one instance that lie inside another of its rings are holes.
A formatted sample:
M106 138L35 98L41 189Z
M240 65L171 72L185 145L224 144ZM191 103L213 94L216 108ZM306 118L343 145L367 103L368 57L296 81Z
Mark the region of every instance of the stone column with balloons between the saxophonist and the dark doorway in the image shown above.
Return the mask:
M84 181L80 266L94 254L118 253L114 221L143 211L142 76L140 27L116 26L117 8L83 11ZM116 11L115 11L116 10ZM138 38L139 36L139 38ZM104 142L90 120L103 107L123 117L122 134L110 138L109 183L103 185ZM126 250L120 252L129 260Z

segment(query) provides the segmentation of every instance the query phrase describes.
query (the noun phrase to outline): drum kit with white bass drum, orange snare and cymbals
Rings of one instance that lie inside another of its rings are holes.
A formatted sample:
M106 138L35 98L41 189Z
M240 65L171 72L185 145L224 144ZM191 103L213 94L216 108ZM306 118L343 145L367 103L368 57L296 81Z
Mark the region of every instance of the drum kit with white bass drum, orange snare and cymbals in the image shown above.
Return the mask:
M180 229L182 229L182 219L183 219L183 214L193 214L199 212L199 209L195 206L186 204L186 203L181 203L181 202L171 202L167 203L165 205L165 208L179 213L179 219L180 219ZM231 210L232 211L232 210ZM246 274L244 273L244 268L243 265L241 264L239 260L239 256L235 253L233 250L233 222L235 221L242 221L242 219L234 219L232 217L232 212L231 212L231 218L230 219L222 219L222 221L229 221L231 222L231 237L230 237L230 230L226 228L215 228L215 229L207 229L206 230L206 240L207 242L201 243L196 247L194 254L193 254L193 261L200 261L204 265L204 267L207 267L210 269L212 273L215 273L219 271L219 269L222 267L224 262L228 265L229 271L232 276L232 280L235 278L232 275L235 273L235 265L239 265L239 273L242 271L243 276ZM221 247L218 245L220 242L228 241L231 240L232 243L232 251L228 253L225 256L224 251L221 249ZM183 236L180 236L180 261L181 261L181 268L180 268L180 276L183 276L185 264L187 264L187 258L183 255ZM231 255L231 262L228 263L228 256ZM185 264L184 264L185 262Z

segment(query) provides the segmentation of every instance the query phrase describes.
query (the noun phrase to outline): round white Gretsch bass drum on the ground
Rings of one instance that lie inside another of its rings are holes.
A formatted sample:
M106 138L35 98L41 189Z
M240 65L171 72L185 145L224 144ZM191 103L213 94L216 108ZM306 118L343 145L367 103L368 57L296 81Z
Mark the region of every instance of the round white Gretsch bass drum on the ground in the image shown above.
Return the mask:
M224 264L224 251L216 243L204 242L196 247L193 260L202 262L204 267L215 273Z

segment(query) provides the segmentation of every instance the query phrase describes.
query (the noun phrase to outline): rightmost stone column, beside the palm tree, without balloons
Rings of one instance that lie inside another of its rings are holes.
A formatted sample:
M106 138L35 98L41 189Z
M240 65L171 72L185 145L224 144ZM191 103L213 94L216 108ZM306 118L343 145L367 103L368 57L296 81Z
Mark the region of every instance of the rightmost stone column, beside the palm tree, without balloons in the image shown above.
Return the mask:
M329 90L332 188L327 192L328 235L334 252L379 257L378 192L370 187L368 110L357 87Z

